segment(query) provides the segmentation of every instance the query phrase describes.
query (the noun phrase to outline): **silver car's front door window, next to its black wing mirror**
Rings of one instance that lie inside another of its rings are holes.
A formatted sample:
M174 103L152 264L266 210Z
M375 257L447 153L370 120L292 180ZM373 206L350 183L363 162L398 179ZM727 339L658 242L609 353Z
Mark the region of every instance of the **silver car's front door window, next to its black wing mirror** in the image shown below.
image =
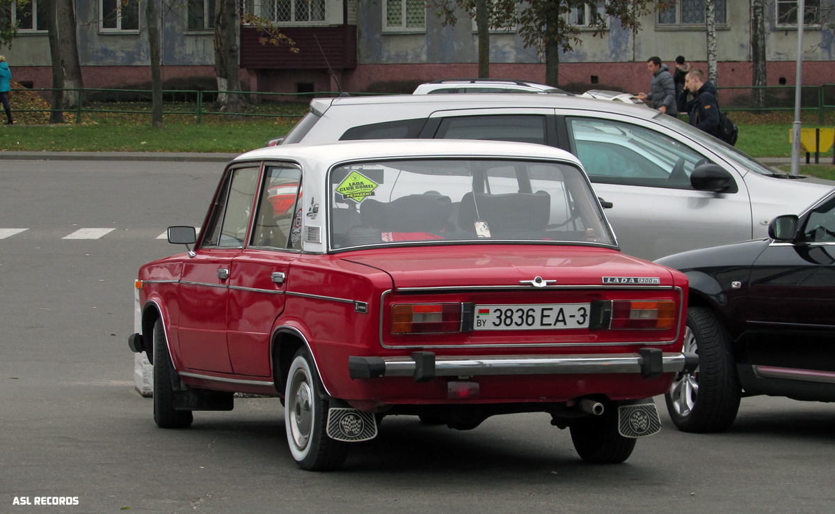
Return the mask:
M567 121L574 153L595 182L692 189L690 174L707 162L655 130L595 118Z

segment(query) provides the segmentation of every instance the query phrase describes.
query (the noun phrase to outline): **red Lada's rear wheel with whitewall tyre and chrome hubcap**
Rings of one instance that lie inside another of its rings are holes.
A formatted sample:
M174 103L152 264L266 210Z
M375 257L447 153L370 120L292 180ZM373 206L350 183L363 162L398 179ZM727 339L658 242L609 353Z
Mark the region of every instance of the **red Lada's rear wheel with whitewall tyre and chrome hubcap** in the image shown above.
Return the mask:
M326 433L328 397L306 349L296 352L287 374L284 425L296 464L307 471L335 470L348 455L348 445Z

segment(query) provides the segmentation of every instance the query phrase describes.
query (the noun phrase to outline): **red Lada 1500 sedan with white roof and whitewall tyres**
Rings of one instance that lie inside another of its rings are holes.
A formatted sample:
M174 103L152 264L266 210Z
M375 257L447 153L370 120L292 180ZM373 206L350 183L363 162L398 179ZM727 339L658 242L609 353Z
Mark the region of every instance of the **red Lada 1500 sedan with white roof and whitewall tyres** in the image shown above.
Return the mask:
M545 412L585 461L622 462L697 363L686 277L620 253L563 150L281 145L232 161L209 205L200 237L169 229L188 252L136 281L129 346L154 365L160 427L276 396L293 458L326 470L386 415L470 430Z

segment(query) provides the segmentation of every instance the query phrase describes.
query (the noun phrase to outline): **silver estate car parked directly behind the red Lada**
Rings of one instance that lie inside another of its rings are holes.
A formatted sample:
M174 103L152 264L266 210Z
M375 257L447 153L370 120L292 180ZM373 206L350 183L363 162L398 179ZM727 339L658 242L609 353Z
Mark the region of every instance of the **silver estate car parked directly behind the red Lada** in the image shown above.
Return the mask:
M374 139L509 140L583 163L625 253L671 253L767 237L832 186L778 173L655 109L561 94L314 99L283 144ZM604 206L605 206L604 205Z

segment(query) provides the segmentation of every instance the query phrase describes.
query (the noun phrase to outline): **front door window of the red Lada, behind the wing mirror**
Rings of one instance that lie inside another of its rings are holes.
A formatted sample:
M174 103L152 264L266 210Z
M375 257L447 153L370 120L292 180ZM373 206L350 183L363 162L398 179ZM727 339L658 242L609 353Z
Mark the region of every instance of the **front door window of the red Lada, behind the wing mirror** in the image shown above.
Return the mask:
M243 247L258 186L258 168L232 170L215 203L202 247Z

